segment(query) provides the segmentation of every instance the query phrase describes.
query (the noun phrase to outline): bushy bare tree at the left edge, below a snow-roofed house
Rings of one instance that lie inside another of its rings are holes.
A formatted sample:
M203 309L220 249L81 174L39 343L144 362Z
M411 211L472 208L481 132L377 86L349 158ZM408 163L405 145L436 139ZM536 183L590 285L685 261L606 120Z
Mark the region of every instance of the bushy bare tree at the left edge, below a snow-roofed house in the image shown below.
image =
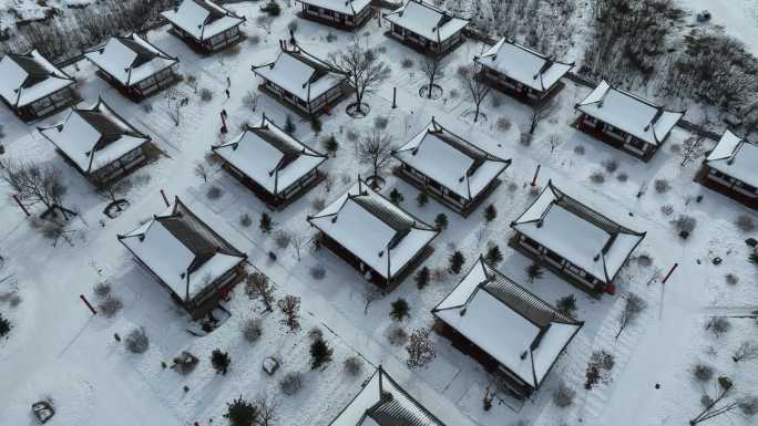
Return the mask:
M45 211L53 217L57 211L74 215L72 210L63 207L63 196L66 187L63 186L61 173L51 166L40 166L32 163L0 162L0 180L4 181L24 204L24 206L43 205Z

